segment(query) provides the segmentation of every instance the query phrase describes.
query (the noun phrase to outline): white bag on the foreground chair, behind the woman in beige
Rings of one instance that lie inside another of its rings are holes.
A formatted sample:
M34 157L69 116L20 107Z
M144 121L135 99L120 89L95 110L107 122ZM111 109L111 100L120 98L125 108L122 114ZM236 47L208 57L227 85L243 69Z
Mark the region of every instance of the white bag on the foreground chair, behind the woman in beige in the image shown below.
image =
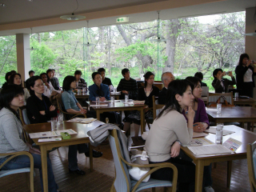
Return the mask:
M146 165L149 164L149 156L146 154L145 150L130 150L131 158L130 161L135 164ZM150 171L150 167L135 167L132 166L129 169L130 178L138 181L140 178L144 176L147 172ZM148 182L150 179L150 175L148 175L142 182Z

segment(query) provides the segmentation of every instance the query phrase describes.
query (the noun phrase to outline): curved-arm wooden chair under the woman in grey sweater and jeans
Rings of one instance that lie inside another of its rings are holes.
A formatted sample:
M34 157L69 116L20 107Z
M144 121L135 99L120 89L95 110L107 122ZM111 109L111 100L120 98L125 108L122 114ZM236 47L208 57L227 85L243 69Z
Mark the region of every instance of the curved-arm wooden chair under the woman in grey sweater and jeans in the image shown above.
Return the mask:
M27 185L30 188L31 192L34 192L34 159L32 154L26 151L19 151L14 153L5 153L0 155L7 155L10 157L6 159L5 162L2 163L0 166L0 178L5 177L10 174L20 174L20 173L26 173L26 179L27 179ZM2 167L9 162L12 158L17 157L18 155L27 155L30 158L30 167L26 168L20 168L20 169L14 169L14 170L1 170ZM14 185L14 183L13 183Z

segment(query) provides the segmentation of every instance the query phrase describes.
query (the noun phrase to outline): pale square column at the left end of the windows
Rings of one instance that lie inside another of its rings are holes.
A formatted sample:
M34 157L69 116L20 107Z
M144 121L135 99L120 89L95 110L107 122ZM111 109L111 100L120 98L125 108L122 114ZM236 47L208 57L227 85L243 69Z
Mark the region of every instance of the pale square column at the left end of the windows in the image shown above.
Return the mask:
M17 70L22 75L22 82L30 78L30 34L16 34Z

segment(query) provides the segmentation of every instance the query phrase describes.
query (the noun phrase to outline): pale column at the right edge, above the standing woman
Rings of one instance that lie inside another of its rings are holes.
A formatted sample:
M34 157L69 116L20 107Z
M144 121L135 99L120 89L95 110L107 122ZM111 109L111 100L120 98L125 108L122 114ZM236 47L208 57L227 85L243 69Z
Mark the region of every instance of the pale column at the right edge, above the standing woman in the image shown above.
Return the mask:
M255 33L256 23L254 21L254 14L255 14L255 7L246 9L246 34ZM256 61L256 36L246 35L246 54L249 55L250 59L254 59ZM256 82L255 76L254 76L254 82ZM254 87L254 99L256 99L255 87Z

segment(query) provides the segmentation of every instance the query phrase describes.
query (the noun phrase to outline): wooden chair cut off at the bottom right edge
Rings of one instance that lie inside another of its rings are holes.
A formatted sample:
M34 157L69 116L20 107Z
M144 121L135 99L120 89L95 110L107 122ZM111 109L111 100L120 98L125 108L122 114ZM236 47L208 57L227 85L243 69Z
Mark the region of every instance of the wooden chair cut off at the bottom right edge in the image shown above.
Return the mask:
M250 190L256 191L256 142L247 145L247 166L250 179Z

